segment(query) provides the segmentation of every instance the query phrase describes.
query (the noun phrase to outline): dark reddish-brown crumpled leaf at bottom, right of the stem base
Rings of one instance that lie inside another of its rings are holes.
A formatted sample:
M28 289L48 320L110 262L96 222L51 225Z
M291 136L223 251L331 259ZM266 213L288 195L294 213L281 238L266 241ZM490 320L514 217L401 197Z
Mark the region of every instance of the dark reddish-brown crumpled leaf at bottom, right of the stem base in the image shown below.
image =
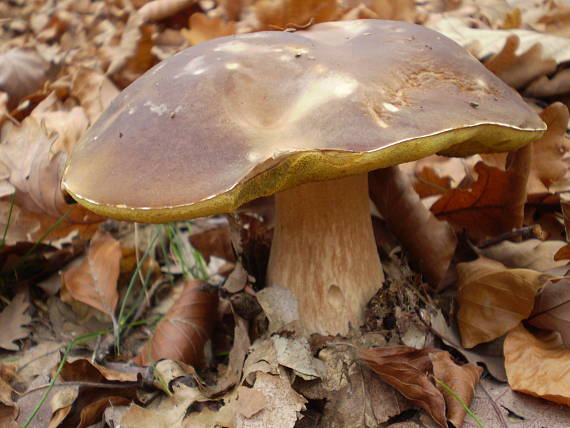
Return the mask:
M404 397L421 407L441 427L447 427L445 401L426 373L432 371L431 349L408 346L361 349L358 356Z

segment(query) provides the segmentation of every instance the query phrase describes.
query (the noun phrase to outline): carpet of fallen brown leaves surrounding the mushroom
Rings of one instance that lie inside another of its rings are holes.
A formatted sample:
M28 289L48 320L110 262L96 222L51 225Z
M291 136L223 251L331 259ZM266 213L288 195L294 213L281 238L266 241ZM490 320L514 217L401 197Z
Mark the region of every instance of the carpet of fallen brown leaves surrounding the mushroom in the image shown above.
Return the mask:
M77 141L160 61L354 19L455 40L548 130L370 173L386 282L350 337L287 330L271 198L143 226L62 191ZM475 426L464 405L570 426L569 38L565 0L0 2L0 426Z

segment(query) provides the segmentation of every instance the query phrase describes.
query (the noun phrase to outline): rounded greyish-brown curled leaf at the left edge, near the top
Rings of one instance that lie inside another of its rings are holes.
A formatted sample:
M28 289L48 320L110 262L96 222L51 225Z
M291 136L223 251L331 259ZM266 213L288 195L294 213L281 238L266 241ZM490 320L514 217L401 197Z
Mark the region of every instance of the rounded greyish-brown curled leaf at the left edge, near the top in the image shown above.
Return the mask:
M12 48L0 53L0 91L8 94L8 107L42 87L48 64L35 49Z

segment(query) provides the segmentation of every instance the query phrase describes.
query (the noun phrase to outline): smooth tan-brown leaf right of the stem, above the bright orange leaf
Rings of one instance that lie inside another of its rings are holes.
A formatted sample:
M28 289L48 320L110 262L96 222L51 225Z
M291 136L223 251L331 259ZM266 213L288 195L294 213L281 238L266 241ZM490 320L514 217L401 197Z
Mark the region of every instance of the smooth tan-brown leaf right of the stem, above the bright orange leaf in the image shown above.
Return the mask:
M466 348L496 339L526 319L547 279L541 272L507 269L484 258L459 263L457 274L457 323Z

